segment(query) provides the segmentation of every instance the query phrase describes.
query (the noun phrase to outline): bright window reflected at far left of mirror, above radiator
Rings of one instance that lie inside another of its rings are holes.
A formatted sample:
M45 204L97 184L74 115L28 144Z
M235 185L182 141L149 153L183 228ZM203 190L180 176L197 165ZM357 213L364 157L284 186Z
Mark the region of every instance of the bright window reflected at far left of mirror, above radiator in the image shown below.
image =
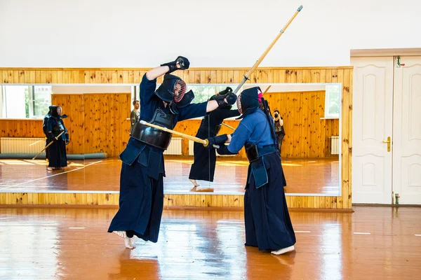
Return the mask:
M0 118L44 118L51 85L1 85Z

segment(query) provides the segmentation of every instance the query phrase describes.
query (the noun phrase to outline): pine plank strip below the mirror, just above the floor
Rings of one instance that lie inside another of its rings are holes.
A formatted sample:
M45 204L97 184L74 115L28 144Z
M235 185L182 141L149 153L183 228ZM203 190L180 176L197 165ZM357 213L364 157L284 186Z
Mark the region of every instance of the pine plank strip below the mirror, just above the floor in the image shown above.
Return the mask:
M300 211L352 211L336 197L287 196L289 209ZM1 207L119 207L119 193L0 193ZM166 194L163 206L179 209L243 209L244 195L206 193ZM350 207L351 208L351 207Z

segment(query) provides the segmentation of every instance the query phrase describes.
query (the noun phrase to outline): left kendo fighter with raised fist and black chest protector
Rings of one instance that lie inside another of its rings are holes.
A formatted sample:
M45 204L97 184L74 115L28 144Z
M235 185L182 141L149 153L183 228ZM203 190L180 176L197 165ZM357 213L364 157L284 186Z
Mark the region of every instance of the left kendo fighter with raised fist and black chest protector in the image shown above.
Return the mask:
M191 104L194 93L186 92L186 83L171 75L178 69L188 69L189 60L178 57L147 71L140 83L140 120L173 129L181 120L206 116L227 104L234 104L233 92L208 102ZM156 78L163 76L156 89ZM131 138L120 154L119 211L112 219L108 232L124 238L126 248L135 248L131 238L136 235L145 241L158 241L163 210L163 151L168 148L172 134L138 122Z

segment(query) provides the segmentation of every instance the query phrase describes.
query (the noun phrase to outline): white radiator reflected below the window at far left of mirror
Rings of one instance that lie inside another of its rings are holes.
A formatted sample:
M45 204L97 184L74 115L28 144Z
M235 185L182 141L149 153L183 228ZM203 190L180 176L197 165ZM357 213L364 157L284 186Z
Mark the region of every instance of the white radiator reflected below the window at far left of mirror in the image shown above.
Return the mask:
M45 138L0 138L0 153L39 153L45 146Z

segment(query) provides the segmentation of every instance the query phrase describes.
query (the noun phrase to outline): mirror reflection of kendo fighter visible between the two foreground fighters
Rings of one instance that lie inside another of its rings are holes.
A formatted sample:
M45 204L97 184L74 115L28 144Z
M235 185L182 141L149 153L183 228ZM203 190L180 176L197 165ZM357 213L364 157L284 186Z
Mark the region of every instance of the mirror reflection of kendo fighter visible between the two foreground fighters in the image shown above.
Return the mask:
M222 92L219 92L213 97L210 97L209 100L214 100L215 97L219 95L227 94L232 92L231 87L227 87ZM196 137L200 139L206 139L209 137L215 137L220 132L222 121L226 118L232 118L240 116L238 110L231 110L232 106L227 105L216 109L212 113L209 113L208 116L203 117L199 130L197 130ZM206 188L203 190L197 190L197 187L200 185L196 180L203 180L213 182L213 176L215 175L215 165L216 165L216 151L215 149L208 149L203 146L203 144L194 142L194 162L190 168L189 180L193 183L194 187L191 191L208 191L213 192L213 188Z

